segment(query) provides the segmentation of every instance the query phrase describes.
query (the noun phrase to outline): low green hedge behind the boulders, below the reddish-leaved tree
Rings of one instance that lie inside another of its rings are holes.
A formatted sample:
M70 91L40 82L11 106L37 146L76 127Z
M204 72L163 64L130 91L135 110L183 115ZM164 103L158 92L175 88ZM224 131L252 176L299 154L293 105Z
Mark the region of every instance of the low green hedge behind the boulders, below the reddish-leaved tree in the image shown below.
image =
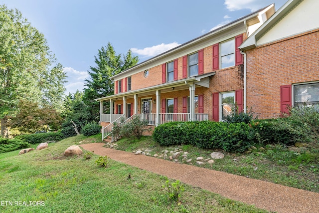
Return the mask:
M64 135L61 132L47 132L30 135L18 135L14 139L21 139L30 144L40 144L48 141L61 141L64 139Z

